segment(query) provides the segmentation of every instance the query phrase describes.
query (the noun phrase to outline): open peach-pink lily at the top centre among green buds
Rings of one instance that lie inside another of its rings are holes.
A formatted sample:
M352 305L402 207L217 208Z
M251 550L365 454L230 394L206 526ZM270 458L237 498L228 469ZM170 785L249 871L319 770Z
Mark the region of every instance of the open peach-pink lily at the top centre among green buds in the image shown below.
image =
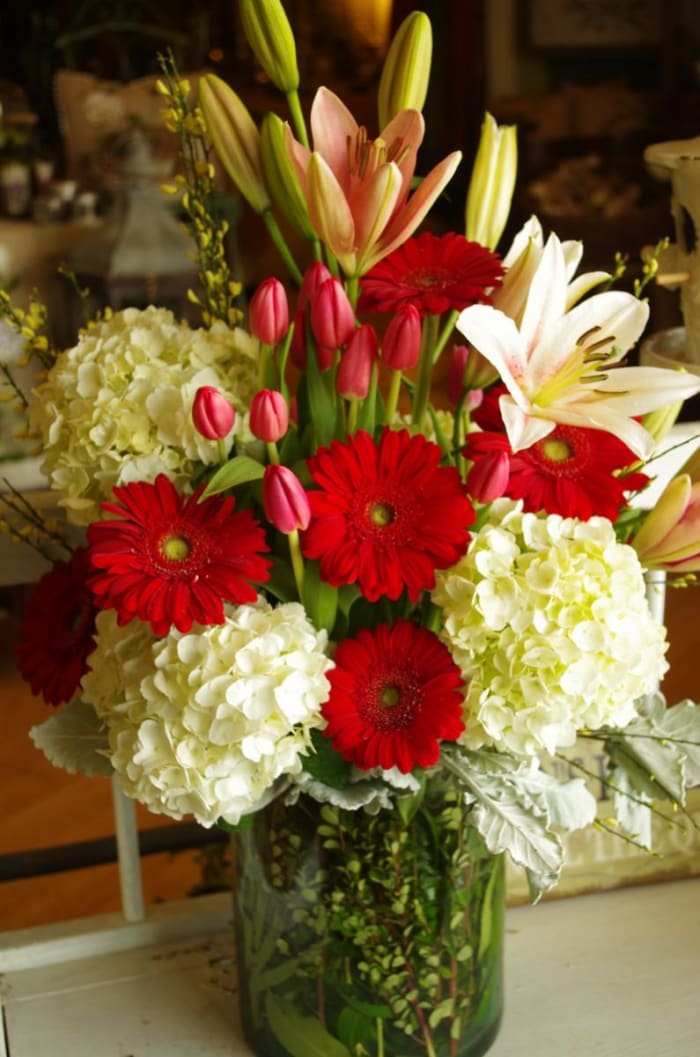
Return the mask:
M420 111L402 110L368 140L327 88L318 89L311 108L313 151L288 127L287 147L312 226L346 275L364 275L405 242L452 179L461 151L436 165L409 198L424 132Z

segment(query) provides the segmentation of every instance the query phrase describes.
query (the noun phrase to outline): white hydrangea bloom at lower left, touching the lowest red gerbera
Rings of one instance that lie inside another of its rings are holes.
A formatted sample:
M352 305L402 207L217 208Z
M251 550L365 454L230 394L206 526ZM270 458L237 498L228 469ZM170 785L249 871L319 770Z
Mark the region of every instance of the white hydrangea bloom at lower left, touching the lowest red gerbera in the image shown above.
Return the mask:
M82 699L128 796L155 813L236 823L301 771L333 662L298 602L225 607L222 625L155 638L97 617Z

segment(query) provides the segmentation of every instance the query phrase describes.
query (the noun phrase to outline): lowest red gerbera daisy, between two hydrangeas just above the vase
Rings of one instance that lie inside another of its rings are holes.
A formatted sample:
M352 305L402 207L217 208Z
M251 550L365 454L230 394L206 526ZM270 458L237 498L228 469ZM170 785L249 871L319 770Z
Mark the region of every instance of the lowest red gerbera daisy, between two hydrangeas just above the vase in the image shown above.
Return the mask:
M333 660L324 733L363 771L432 766L439 742L464 729L460 670L427 628L410 620L364 628Z

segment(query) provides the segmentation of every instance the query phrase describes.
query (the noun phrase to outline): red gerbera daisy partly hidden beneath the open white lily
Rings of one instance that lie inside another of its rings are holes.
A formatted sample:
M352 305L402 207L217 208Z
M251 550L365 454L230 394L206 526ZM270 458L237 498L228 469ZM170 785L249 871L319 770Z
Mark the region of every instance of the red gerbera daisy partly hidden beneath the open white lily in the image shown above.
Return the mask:
M633 451L612 433L577 426L557 426L532 447L513 453L504 433L469 435L464 455L474 468L505 452L510 477L505 495L521 499L523 509L560 514L587 521L601 515L614 521L630 492L645 487L645 474L621 470L635 461ZM468 487L467 477L467 487Z

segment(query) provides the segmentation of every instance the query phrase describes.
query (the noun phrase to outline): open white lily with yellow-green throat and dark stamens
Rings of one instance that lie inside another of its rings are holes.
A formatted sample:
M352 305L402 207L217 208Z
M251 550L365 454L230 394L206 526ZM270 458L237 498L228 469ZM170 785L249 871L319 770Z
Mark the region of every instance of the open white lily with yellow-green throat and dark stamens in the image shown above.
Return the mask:
M570 266L551 235L519 322L475 304L461 313L457 328L508 389L500 411L514 451L560 423L614 433L646 458L653 440L632 416L694 395L700 379L657 367L615 367L642 334L649 308L622 291L569 308Z

